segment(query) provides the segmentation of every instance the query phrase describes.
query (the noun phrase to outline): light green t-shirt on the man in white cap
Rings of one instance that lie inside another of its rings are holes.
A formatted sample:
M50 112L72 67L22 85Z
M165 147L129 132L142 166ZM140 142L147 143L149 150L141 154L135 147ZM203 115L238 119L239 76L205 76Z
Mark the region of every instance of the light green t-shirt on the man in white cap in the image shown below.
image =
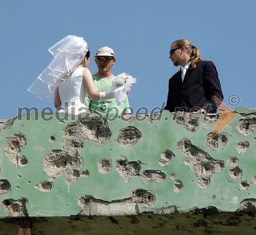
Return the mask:
M111 89L112 85L112 79L114 76L109 76L109 77L99 77L97 74L93 75L93 82L96 88L96 91L100 92L108 92ZM108 105L108 108L106 110L103 110L101 108L101 105L103 103L106 103ZM130 112L130 107L129 107L129 102L128 102L128 97L124 99L121 105L117 105L116 99L110 99L110 100L99 100L99 101L92 101L89 96L86 97L84 100L84 104L89 107L91 113L100 112L103 114L119 114L121 115L124 111L127 111L128 113Z

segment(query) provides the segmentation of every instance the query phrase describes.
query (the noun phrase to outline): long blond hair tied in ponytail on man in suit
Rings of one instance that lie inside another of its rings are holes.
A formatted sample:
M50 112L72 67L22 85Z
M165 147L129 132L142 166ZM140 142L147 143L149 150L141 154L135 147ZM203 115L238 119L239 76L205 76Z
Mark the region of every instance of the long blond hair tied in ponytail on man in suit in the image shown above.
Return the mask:
M174 41L172 44L177 45L178 48L182 48L182 46L184 46L187 54L190 57L191 69L195 69L197 66L196 63L199 60L202 60L202 57L200 55L198 48L194 45L191 45L191 43L188 40L179 39L177 41Z

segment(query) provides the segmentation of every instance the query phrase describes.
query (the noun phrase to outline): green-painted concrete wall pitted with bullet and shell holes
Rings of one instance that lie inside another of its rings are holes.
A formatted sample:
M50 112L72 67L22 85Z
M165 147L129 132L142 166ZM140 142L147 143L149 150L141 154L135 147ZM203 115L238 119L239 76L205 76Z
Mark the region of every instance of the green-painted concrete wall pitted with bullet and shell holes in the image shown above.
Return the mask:
M256 109L0 121L0 218L255 211ZM219 120L219 122L222 120Z

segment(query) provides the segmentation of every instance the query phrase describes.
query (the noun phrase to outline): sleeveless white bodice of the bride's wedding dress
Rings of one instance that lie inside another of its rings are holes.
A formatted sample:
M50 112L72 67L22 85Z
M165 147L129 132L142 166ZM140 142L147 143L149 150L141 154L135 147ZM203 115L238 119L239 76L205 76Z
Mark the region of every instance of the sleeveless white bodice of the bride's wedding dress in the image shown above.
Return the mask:
M88 107L84 105L87 92L83 85L83 69L85 68L77 68L68 79L63 80L58 85L61 107L57 109L57 112L66 112L73 115L90 113Z

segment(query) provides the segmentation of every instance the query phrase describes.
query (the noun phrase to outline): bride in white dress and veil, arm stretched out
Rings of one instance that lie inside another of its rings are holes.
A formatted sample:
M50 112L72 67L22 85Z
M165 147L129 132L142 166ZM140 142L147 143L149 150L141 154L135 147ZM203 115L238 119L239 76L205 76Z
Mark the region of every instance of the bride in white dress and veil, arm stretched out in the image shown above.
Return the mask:
M84 105L87 96L93 101L115 97L121 102L130 92L129 84L110 92L96 91L92 74L87 68L90 51L82 37L69 35L53 45L49 52L54 56L53 60L28 91L41 100L54 103L57 112L74 115L90 113Z

